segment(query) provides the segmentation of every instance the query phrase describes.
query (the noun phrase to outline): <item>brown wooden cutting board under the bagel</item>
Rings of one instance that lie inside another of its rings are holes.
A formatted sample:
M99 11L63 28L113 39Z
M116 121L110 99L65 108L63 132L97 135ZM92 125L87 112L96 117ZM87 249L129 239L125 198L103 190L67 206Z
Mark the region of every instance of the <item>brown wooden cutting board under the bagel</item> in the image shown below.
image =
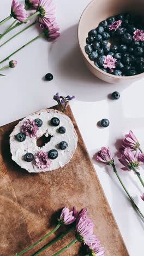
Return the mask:
M59 109L58 106L53 107ZM12 256L32 245L56 225L64 206L87 207L95 223L95 234L105 247L106 256L127 256L122 236L106 201L86 146L70 107L67 114L75 126L79 142L73 159L56 171L30 174L11 160L9 135L19 120L0 127L0 255ZM65 228L64 228L65 229ZM62 229L61 229L62 231ZM49 237L25 253L32 255L58 235ZM52 256L74 238L74 232L41 255ZM77 242L63 256L85 255Z

